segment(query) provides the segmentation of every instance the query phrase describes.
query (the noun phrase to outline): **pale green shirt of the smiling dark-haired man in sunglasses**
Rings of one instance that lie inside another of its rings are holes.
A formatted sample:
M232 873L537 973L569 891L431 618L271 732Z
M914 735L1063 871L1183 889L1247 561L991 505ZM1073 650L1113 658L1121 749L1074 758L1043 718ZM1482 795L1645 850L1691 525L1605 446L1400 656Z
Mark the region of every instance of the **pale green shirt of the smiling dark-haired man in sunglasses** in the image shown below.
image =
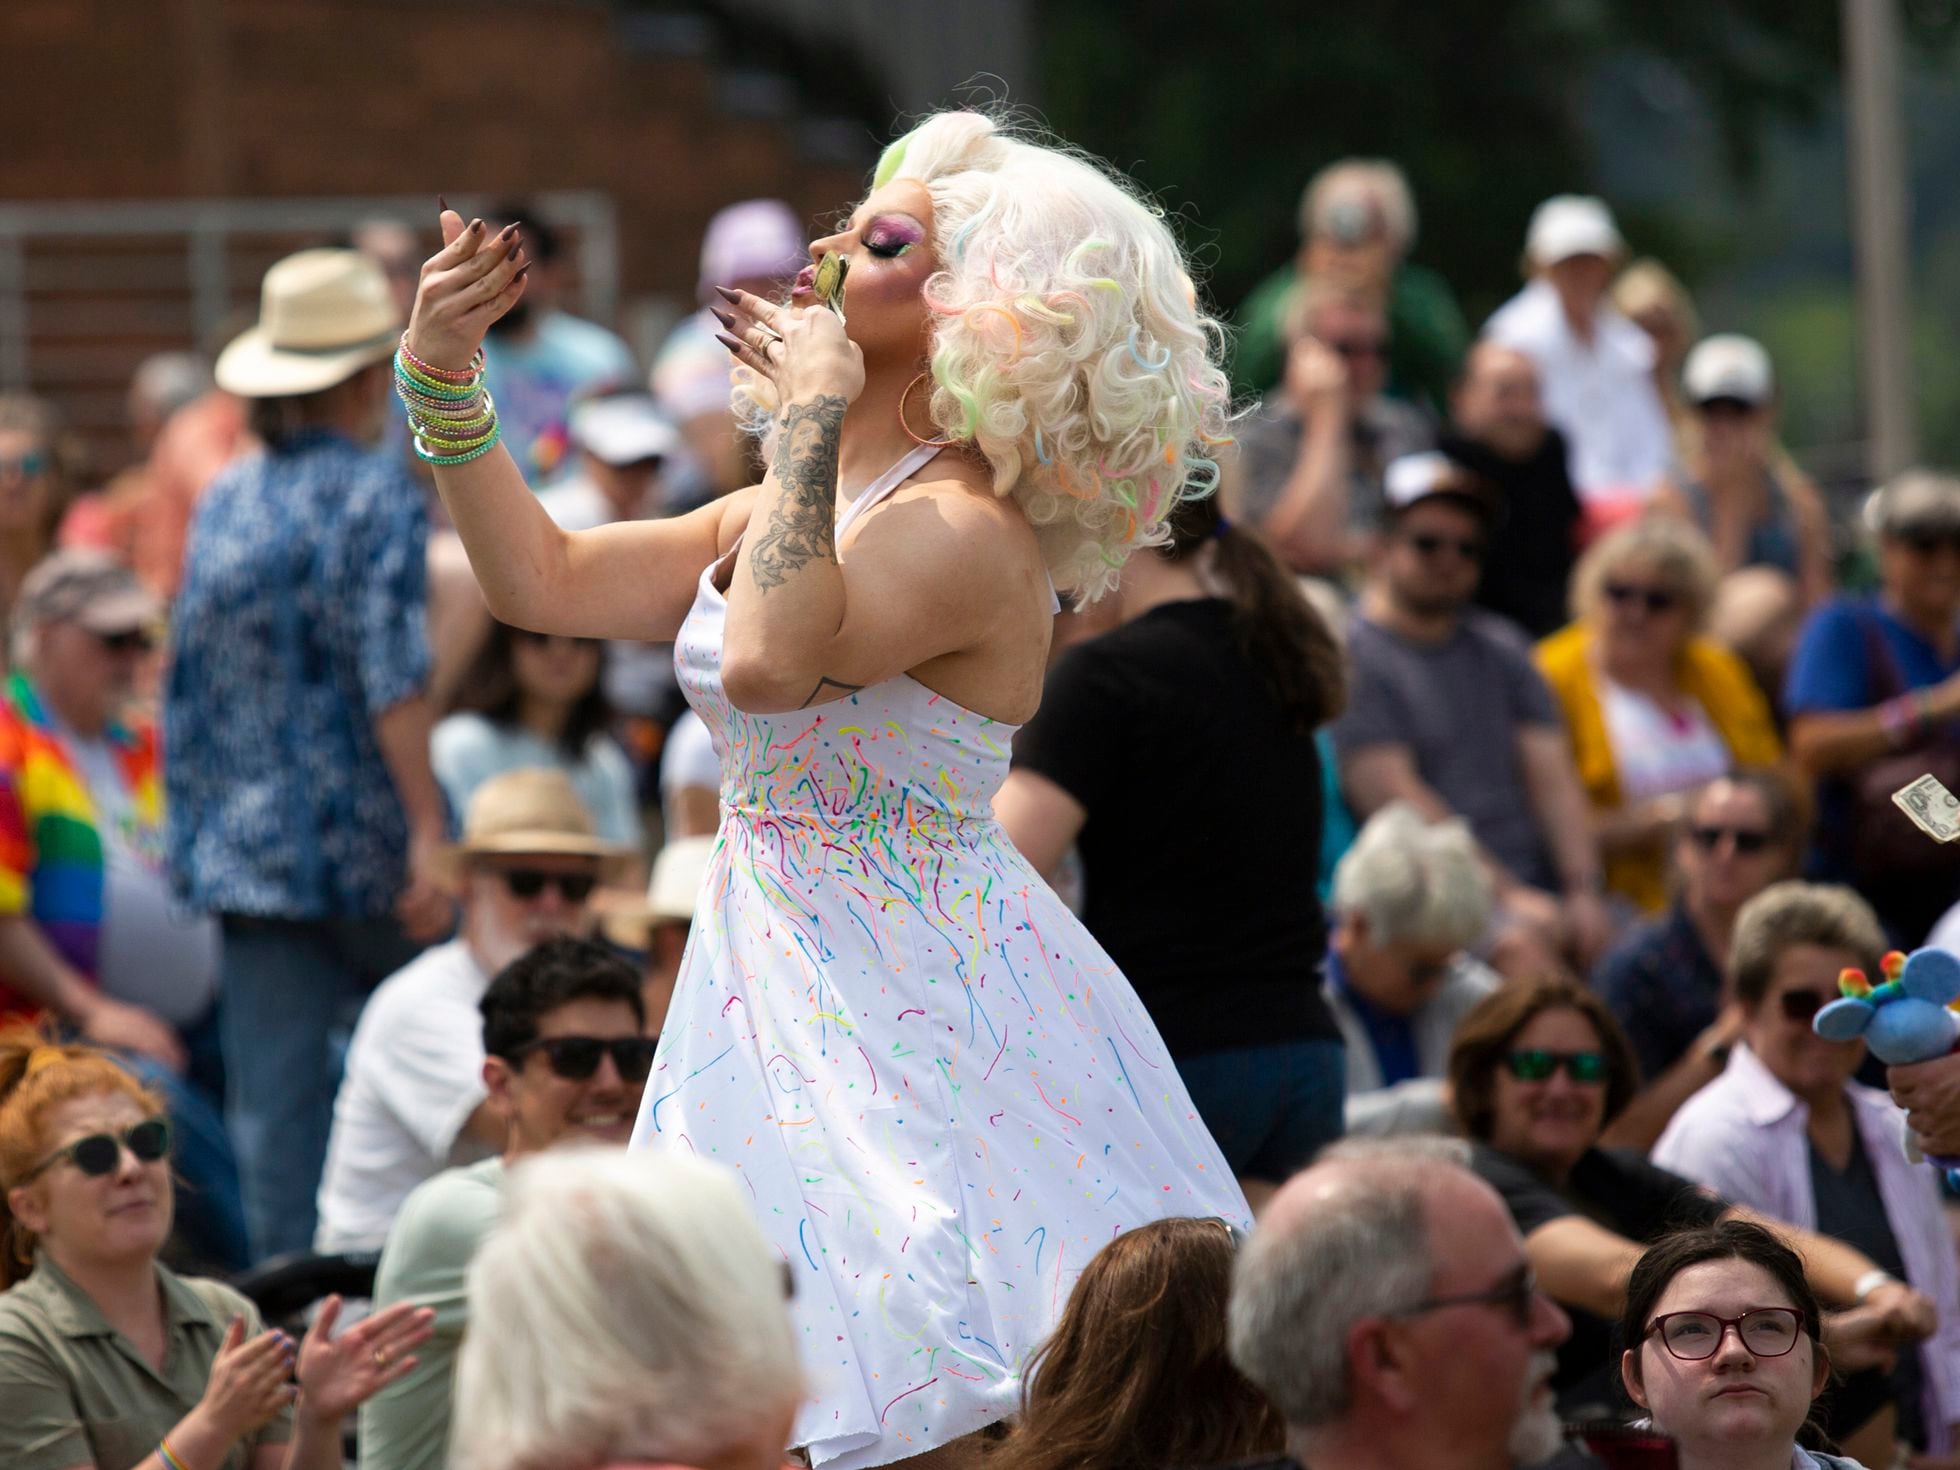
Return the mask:
M449 1399L468 1321L465 1280L476 1247L504 1213L504 1160L447 1168L416 1186L382 1247L374 1309L410 1301L435 1309L435 1337L416 1368L361 1405L361 1470L443 1470Z

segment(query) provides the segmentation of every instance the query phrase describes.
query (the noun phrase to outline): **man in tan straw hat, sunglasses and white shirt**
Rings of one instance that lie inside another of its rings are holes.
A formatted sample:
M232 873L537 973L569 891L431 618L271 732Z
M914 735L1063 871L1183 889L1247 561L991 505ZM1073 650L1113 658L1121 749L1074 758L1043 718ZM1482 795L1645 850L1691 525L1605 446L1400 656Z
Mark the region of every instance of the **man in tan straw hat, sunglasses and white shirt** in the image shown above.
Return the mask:
M584 935L592 890L623 860L561 770L510 770L476 790L447 864L461 933L376 986L347 1049L318 1250L378 1250L410 1190L504 1147L482 1082L484 990L533 945Z

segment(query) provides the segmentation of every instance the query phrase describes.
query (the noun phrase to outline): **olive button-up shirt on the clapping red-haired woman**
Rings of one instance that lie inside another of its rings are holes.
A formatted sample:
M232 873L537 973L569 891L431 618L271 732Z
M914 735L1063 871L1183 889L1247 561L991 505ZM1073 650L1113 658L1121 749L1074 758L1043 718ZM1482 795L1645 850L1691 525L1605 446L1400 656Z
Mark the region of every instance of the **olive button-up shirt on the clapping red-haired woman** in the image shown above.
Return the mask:
M259 1309L229 1286L159 1264L157 1288L163 1372L47 1256L0 1294L0 1466L129 1470L204 1397L231 1319L245 1317L247 1337L265 1331ZM245 1470L259 1445L288 1439L292 1411L282 1409L220 1464L198 1470Z

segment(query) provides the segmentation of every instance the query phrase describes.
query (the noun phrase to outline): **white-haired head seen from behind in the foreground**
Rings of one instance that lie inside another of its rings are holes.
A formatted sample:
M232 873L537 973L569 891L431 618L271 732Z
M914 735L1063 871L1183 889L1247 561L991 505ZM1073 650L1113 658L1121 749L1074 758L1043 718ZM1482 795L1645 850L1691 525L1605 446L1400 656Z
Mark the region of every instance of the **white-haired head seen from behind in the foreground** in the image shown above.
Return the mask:
M470 1262L449 1464L778 1470L804 1384L786 1280L721 1164L525 1158Z

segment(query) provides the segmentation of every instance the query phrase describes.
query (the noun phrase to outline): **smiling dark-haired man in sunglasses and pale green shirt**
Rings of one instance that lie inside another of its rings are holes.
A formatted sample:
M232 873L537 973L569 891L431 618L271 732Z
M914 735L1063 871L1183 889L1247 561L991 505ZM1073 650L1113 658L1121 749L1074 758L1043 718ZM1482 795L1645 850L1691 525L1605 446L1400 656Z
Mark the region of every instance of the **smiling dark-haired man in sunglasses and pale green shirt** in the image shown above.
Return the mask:
M435 1311L416 1368L361 1405L363 1470L441 1470L470 1260L504 1211L504 1170L570 1145L623 1147L653 1068L639 976L602 945L547 939L506 964L482 998L482 1080L508 1127L502 1156L417 1186L388 1231L374 1309Z

